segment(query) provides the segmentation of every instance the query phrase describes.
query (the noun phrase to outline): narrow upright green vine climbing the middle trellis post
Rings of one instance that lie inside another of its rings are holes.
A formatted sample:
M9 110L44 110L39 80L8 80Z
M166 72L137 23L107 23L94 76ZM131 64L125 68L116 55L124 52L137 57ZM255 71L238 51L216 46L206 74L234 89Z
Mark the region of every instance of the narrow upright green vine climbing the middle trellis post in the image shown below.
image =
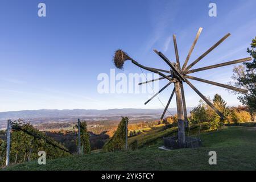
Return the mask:
M83 147L83 151L85 154L90 153L90 135L87 130L87 123L86 121L82 121L80 123L80 137L81 137L81 146Z

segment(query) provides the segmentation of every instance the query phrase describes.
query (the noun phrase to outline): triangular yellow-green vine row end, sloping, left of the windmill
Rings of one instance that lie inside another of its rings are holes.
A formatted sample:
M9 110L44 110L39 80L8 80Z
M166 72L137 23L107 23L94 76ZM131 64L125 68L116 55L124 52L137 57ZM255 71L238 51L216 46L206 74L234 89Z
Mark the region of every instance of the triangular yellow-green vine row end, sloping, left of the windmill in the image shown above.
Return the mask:
M117 131L115 131L112 138L106 142L102 148L102 151L115 151L125 148L126 139L126 124L128 125L129 119L122 117L122 121L119 123Z

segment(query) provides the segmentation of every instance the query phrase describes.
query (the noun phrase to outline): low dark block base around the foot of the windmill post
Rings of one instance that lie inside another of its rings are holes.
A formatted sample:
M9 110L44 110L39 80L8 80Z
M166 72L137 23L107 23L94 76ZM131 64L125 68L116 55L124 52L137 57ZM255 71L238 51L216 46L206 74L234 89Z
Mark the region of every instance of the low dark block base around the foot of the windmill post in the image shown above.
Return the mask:
M171 150L179 148L198 148L202 146L201 139L196 137L185 137L185 146L179 146L178 137L165 137L163 140L164 147L169 148Z

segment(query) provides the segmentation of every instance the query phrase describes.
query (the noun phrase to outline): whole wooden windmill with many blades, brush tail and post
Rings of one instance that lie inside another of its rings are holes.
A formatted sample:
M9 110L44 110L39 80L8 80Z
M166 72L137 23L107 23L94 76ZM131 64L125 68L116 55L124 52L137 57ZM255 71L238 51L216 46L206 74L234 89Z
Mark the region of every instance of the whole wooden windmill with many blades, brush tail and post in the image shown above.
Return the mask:
M251 60L251 57L246 57L244 59L228 61L228 62L225 62L225 63L210 65L208 67L191 69L193 67L193 65L195 65L201 59L203 59L205 56L207 56L208 53L210 53L214 48L216 48L218 45L220 45L222 42L224 42L224 40L226 38L228 38L228 36L230 36L230 34L225 35L216 44L214 44L207 51L205 51L203 53L203 55L201 55L199 58L197 58L195 61L193 61L191 64L189 64L187 66L189 58L191 56L191 53L193 52L193 49L195 48L195 45L197 43L197 40L199 39L199 36L200 36L202 30L203 30L203 28L199 28L199 31L196 34L196 38L195 38L195 40L194 40L194 42L193 42L193 44L192 44L192 46L191 46L191 48L188 52L188 56L185 59L184 64L183 64L182 67L180 65L179 53L178 53L178 49L177 49L177 43L176 43L176 36L175 35L173 35L173 39L174 39L176 63L172 63L166 56L164 56L164 54L162 52L156 51L154 49L154 52L157 55L159 55L170 67L167 70L158 69L158 68L144 67L143 65L139 64L137 61L132 59L129 55L127 55L126 52L123 52L121 49L118 49L115 52L115 56L114 56L114 59L113 59L115 66L119 69L123 68L123 64L125 63L126 60L130 60L133 64L137 65L138 67L141 67L143 69L146 69L147 71L151 71L151 72L157 73L160 76L162 76L162 77L159 77L158 79L155 79L155 80L141 82L139 85L146 84L148 82L153 82L153 81L156 81L156 80L163 80L163 79L167 79L169 81L168 84L166 84L162 89L159 90L158 93L156 93L154 96L152 96L150 98L150 100L145 102L145 104L150 102L160 92L162 92L169 85L174 83L174 90L172 90L171 96L170 96L170 98L167 102L167 105L164 109L164 112L162 114L161 119L164 118L164 115L166 114L168 106L170 105L172 97L174 96L174 93L175 93L175 95L176 95L176 104L177 104L177 119L178 119L178 143L179 143L179 146L181 146L181 147L182 146L185 147L184 122L185 123L188 122L187 109L186 109L186 103L185 103L185 95L184 95L184 88L183 88L184 83L188 84L214 111L216 111L216 113L220 116L221 119L224 119L224 115L212 104L212 102L210 102L199 90L197 90L195 88L195 86L192 85L191 82L188 81L188 79L205 82L205 83L211 84L211 85L221 86L223 88L230 89L230 90L236 90L237 92L241 92L241 93L247 93L247 90L244 90L244 89L241 89L241 88L236 88L236 87L233 87L233 86L220 84L218 82L204 80L202 78L197 78L197 77L193 77L193 76L188 75L189 73L195 73L195 72L204 71L204 70L212 69L212 68L224 67L226 65L242 63L242 62ZM164 73L169 73L169 74L165 75Z

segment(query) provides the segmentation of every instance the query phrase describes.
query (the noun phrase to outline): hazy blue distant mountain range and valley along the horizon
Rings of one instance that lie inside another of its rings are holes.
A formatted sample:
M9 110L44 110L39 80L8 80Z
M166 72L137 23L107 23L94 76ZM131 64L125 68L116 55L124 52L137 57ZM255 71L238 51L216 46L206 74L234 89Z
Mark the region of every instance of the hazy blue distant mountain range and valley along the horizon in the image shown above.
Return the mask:
M188 112L191 107L187 108ZM170 108L168 111L171 114L176 113L176 108ZM22 111L7 111L0 112L0 129L6 126L7 119L25 119L30 120L31 123L42 122L68 122L75 121L78 117L81 119L88 119L90 121L112 120L121 116L141 117L150 116L151 118L159 118L163 113L163 109L73 109L73 110L22 110ZM168 114L168 113L167 113Z

